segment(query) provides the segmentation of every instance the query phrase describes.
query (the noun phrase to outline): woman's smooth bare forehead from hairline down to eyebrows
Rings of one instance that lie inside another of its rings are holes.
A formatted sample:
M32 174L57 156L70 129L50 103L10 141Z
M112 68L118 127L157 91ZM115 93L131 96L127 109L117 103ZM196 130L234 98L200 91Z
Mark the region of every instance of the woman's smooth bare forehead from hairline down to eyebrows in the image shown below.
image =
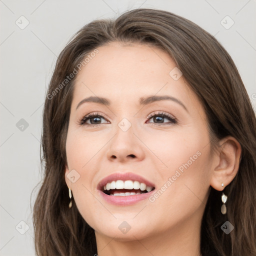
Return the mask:
M182 76L177 80L172 78L170 72L177 68L176 63L162 49L111 42L97 50L77 74L73 98L76 102L95 95L114 102L138 101L142 96L156 94L168 94L186 104L196 100Z

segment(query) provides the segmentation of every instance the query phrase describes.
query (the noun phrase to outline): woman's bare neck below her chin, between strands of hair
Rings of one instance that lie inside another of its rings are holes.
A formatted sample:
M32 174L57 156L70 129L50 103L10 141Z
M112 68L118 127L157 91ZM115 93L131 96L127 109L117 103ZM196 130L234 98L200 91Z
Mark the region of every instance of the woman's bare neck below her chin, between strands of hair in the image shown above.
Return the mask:
M198 215L197 215L198 218ZM199 222L198 222L199 220ZM200 256L200 218L190 219L144 238L130 235L130 240L118 240L95 231L98 256ZM128 234L128 233L127 233Z

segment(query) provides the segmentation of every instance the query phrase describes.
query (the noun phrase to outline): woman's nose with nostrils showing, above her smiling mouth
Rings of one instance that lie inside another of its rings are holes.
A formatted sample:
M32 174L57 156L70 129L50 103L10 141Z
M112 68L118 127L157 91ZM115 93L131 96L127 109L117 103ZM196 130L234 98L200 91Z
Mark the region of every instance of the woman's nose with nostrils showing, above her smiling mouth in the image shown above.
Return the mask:
M108 143L107 158L110 161L140 161L144 158L143 144L131 127L123 131L117 127L116 133Z

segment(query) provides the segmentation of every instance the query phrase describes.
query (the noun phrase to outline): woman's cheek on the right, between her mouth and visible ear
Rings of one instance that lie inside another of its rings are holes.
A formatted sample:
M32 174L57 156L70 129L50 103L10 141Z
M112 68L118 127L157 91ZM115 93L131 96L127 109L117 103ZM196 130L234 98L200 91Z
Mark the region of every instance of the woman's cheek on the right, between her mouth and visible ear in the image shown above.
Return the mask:
M201 203L198 197L201 200L205 197L211 173L208 140L206 129L158 132L157 139L146 140L148 148L157 156L153 159L160 186L155 195L157 198L152 198L152 201L157 199L159 205L168 201L168 205L179 205L181 208Z

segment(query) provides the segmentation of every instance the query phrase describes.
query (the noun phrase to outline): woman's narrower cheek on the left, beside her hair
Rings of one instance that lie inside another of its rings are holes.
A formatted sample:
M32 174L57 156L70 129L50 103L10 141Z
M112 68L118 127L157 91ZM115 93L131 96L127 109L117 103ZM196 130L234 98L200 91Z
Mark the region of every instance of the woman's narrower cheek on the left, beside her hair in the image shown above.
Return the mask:
M75 134L75 131L70 131L66 139L66 155L69 170L75 170L78 176L75 182L71 183L72 196L75 200L76 207L85 221L94 228L94 218L100 218L97 209L100 207L93 195L92 180L93 173L93 155L99 150L99 145L95 143L90 136ZM101 146L102 147L102 146ZM78 173L78 174L77 174ZM89 205L89 208L88 206Z

